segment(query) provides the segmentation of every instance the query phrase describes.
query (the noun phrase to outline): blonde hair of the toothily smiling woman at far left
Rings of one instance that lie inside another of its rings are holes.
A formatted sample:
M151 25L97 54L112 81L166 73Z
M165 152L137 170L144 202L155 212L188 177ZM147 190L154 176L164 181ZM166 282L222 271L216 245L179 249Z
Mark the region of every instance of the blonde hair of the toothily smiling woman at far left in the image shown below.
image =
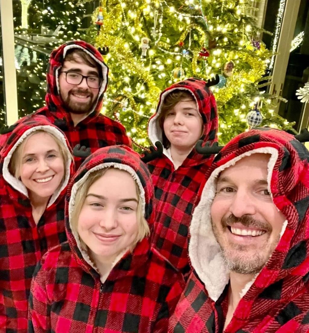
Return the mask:
M63 175L63 179L65 179L66 174L68 172L67 170L67 164L69 162L69 159L73 161L73 157L72 155L68 154L67 148L64 146L63 142L57 138L53 133L44 131L44 130L37 130L34 131L32 133L30 133L24 140L23 142L15 149L15 151L12 154L12 157L10 159L10 163L9 163L9 172L14 175L15 178L19 178L20 177L20 166L21 166L21 161L22 161L22 154L25 148L26 143L28 142L28 140L34 136L37 133L45 133L48 134L50 137L52 137L61 154L62 160L63 160L63 165L64 165L64 175Z

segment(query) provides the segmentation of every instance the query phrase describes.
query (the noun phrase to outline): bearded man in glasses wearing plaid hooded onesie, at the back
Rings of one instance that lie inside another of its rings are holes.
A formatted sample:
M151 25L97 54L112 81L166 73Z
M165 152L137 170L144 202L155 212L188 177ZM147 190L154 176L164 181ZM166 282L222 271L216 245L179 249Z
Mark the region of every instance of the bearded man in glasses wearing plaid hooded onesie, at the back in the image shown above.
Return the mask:
M46 106L34 114L44 115L58 126L72 148L79 144L93 153L112 145L132 147L125 128L100 113L107 83L108 67L96 48L84 41L63 44L49 60ZM6 138L1 136L1 147ZM81 162L75 157L76 168Z

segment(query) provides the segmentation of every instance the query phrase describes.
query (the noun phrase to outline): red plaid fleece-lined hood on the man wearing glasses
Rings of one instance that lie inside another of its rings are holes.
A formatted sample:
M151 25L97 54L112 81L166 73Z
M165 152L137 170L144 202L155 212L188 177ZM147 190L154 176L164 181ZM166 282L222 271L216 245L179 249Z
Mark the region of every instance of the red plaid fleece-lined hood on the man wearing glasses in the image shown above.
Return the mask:
M108 67L103 61L101 53L92 45L84 41L70 41L58 47L51 53L49 64L47 67L47 94L45 96L46 106L50 112L55 112L57 118L67 117L67 111L60 97L59 91L59 74L63 65L64 58L68 50L81 49L90 55L101 67L103 82L99 91L97 104L93 110L89 112L91 117L100 114L103 103L104 92L108 83ZM88 120L89 121L89 120Z

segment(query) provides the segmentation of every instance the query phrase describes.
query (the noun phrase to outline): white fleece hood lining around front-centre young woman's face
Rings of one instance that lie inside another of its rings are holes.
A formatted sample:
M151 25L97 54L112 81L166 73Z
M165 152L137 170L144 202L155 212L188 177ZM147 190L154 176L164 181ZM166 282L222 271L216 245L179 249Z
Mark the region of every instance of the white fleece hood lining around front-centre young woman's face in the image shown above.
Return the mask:
M139 190L140 190L140 200L142 202L142 213L143 216L145 216L145 206L146 206L146 200L145 200L145 190L144 187L141 183L141 180L139 178L139 176L137 175L136 171L131 167L128 166L126 164L121 164L121 163L114 163L114 162L109 162L109 163L102 163L99 164L97 166L94 166L92 169L88 170L85 175L83 176L83 178L81 178L80 180L78 180L73 186L72 186L72 190L71 190L71 198L70 198L70 202L69 202L69 223L70 223L70 228L72 230L72 234L76 240L77 243L77 247L79 248L79 250L82 253L83 258L85 259L85 261L92 267L94 268L98 273L98 269L96 268L96 265L94 264L94 262L91 260L88 252L86 252L82 245L81 245L81 241L79 238L79 234L77 232L77 230L75 231L74 228L72 228L71 225L71 216L72 216L72 212L74 210L74 205L75 205L75 197L76 197L76 193L77 190L79 189L79 187L86 181L86 179L89 177L90 173L100 170L100 169L104 169L104 168L108 168L108 167L114 167L116 169L120 169L120 170L124 170L127 171L131 174L131 176L133 177L133 179L136 181ZM113 264L112 264L112 268L117 264L117 262L122 258L122 256L124 255L124 253L127 251L128 249L125 249L123 252L121 252L117 258L114 260ZM108 272L109 274L109 272ZM108 274L101 276L101 282L104 283L104 281L106 280Z

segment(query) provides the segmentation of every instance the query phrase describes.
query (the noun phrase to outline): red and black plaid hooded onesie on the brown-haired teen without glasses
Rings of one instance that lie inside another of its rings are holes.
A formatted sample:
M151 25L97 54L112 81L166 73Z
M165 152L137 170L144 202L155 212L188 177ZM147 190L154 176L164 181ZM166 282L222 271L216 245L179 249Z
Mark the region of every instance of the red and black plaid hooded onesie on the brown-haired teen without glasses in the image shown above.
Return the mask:
M218 115L214 96L206 82L190 78L173 84L161 93L156 113L148 124L148 135L153 145L156 141L162 143L162 131L157 118L166 95L175 89L185 90L193 95L204 123L201 140L204 143L217 141ZM175 170L164 149L162 157L147 164L152 173L157 206L152 244L183 274L189 271L188 227L193 203L212 159L213 156L205 157L193 148L182 165Z

